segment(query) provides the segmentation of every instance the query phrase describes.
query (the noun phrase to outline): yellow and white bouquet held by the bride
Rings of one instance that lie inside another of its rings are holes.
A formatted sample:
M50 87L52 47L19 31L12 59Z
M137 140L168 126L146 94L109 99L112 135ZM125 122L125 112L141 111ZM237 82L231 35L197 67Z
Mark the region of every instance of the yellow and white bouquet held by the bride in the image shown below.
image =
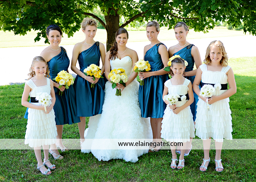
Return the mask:
M116 88L117 83L123 84L123 86L125 86L125 83L128 82L128 76L123 68L111 70L108 78L111 80L113 89ZM116 90L116 96L121 96L120 89Z

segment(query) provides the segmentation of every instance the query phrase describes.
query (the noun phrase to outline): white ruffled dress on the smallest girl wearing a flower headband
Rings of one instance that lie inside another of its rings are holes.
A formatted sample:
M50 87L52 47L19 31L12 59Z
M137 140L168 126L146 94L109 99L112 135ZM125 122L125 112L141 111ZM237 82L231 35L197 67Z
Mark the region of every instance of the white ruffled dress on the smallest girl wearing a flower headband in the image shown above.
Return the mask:
M188 93L188 85L190 80L185 79L182 85L172 85L171 80L165 82L168 87L168 93L175 93L178 95L186 95ZM176 107L183 106L188 101L176 102ZM169 106L166 106L165 114L162 120L161 138L169 142L188 142L190 138L195 137L195 128L193 122L193 115L190 106L184 108L178 114L174 114Z

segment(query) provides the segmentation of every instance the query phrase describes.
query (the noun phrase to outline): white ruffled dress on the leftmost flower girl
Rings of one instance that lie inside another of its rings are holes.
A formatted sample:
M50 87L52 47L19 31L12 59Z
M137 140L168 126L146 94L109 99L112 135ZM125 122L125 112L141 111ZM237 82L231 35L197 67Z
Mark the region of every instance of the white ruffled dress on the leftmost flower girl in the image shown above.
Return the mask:
M31 79L26 82L32 88L29 93L30 97L36 97L39 92L50 94L50 79L46 78L46 80L47 85L41 87L37 87ZM40 103L31 104L40 105ZM55 143L57 128L53 109L49 114L45 114L43 110L29 108L28 113L25 144L29 144L30 147L39 147Z

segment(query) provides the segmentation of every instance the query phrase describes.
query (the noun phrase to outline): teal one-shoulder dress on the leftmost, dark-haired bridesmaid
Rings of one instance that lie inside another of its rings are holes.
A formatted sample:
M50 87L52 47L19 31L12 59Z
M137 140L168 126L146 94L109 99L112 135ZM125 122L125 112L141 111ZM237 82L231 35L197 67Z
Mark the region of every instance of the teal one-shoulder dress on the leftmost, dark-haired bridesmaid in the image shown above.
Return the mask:
M61 47L61 52L49 60L48 68L51 79L55 78L57 74L64 70L67 71L69 67L69 58L66 50ZM55 82L55 81L53 81ZM71 85L68 89L59 95L59 88L53 87L55 92L56 102L53 106L55 112L56 125L79 123L80 118L76 116L76 97L74 87ZM24 118L27 117L27 112Z

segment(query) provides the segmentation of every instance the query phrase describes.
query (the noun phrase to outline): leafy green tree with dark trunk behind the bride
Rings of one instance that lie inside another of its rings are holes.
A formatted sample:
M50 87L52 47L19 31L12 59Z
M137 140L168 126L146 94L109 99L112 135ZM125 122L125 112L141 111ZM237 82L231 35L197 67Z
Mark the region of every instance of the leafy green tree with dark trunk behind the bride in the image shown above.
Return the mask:
M46 38L49 24L58 24L70 37L80 29L83 17L91 16L106 29L109 50L117 29L133 21L157 20L169 28L184 21L203 32L218 20L234 28L242 21L244 32L256 35L255 9L253 0L0 0L0 29L20 35L39 30L34 39L38 41ZM120 16L125 20L122 24Z

